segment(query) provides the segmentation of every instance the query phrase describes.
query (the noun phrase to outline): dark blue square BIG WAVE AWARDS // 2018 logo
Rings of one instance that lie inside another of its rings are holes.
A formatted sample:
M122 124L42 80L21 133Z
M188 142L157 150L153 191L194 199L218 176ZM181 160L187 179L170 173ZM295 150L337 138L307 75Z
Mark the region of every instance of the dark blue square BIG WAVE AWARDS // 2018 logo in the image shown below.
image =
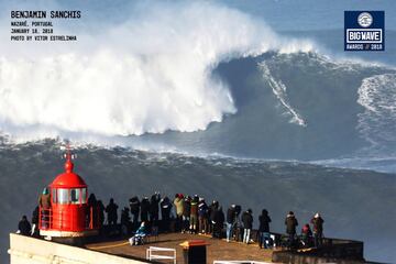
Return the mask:
M344 11L344 51L385 51L385 12Z

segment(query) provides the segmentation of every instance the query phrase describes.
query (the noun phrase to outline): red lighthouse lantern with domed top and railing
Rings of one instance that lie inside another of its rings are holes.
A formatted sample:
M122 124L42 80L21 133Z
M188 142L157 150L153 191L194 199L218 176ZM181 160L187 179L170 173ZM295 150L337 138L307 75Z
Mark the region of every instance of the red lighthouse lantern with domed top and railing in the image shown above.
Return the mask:
M67 152L65 172L50 185L51 206L40 208L41 235L79 238L98 233L96 205L88 206L88 186L73 168L72 154Z

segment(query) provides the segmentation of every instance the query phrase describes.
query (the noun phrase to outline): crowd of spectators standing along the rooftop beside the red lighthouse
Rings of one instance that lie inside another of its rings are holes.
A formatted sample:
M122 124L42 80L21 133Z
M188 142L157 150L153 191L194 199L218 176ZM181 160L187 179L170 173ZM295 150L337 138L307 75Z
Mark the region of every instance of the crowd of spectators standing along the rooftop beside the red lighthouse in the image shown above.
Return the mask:
M51 199L47 189L44 189L38 199L40 208L51 207ZM24 235L37 235L38 206L32 216L32 226L23 216L19 222L19 233ZM215 239L240 241L250 244L255 239L260 248L271 248L274 241L271 237L270 226L272 219L266 209L258 216L258 229L253 239L253 211L248 208L242 210L239 205L231 205L223 210L217 200L207 202L198 195L188 196L176 194L173 199L168 196L161 197L154 193L151 197L134 196L129 199L129 206L121 209L120 221L118 218L119 206L110 198L107 206L97 200L91 194L88 198L87 222L95 222L101 231L106 229L107 234L130 235L140 232L182 232L194 234L207 234ZM41 209L43 210L43 209ZM47 216L42 213L42 218ZM92 218L95 221L89 221ZM45 221L43 221L45 222ZM289 248L319 248L323 243L323 219L316 213L309 223L302 226L300 235L297 235L298 221L293 211L289 211L285 219L286 241L283 245ZM312 226L312 229L310 228ZM143 231L144 230L144 231ZM131 244L138 243L131 240Z

